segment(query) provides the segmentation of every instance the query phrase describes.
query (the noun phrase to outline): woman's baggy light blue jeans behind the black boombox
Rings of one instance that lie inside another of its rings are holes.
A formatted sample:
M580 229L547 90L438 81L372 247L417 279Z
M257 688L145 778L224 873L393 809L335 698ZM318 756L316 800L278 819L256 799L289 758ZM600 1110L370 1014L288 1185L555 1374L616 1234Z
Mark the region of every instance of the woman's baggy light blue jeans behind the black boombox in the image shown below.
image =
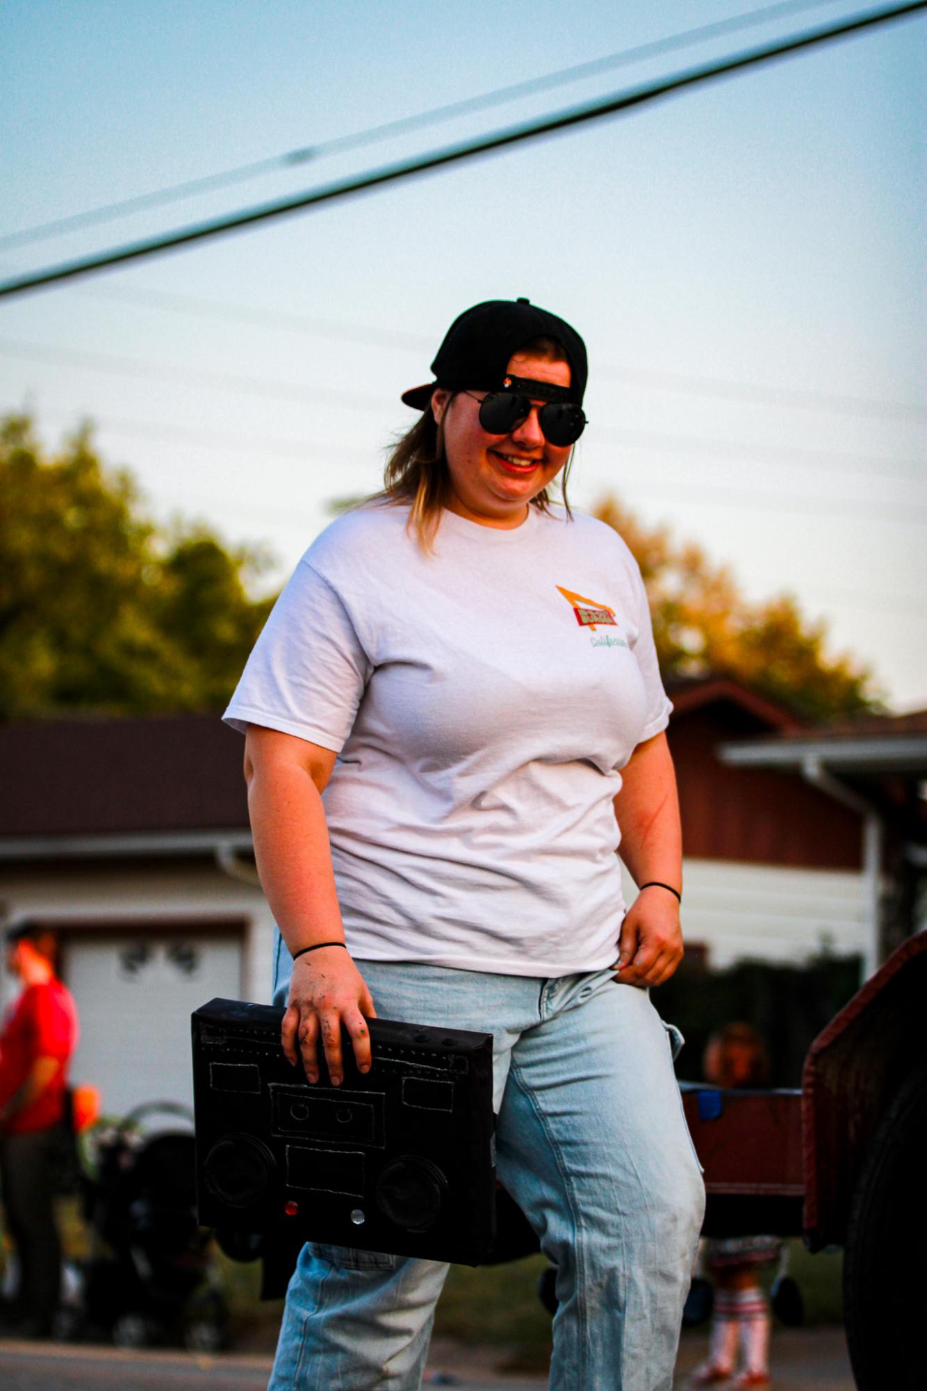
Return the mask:
M675 1031L646 990L610 971L357 964L382 1018L493 1035L499 1178L557 1267L550 1387L668 1391L705 1191ZM446 1274L434 1260L304 1246L268 1391L417 1391Z

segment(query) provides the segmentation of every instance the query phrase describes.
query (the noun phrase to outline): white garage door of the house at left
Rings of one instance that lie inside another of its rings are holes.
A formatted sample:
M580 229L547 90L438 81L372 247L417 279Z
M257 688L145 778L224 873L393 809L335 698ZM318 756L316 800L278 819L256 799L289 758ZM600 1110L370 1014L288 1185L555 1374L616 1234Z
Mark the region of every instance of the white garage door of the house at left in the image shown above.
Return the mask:
M240 995L233 938L93 938L67 944L65 983L81 1042L71 1077L100 1091L104 1116L142 1102L193 1103L190 1014L215 995Z

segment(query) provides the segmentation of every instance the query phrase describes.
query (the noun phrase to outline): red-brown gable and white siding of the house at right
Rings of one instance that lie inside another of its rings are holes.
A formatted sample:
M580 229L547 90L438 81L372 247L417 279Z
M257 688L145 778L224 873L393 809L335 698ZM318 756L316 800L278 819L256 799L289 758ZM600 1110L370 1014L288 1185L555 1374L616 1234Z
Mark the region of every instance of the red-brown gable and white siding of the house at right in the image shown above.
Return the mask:
M719 757L798 734L794 716L737 682L670 689L685 850L688 950L712 967L864 954L863 818L801 776Z

